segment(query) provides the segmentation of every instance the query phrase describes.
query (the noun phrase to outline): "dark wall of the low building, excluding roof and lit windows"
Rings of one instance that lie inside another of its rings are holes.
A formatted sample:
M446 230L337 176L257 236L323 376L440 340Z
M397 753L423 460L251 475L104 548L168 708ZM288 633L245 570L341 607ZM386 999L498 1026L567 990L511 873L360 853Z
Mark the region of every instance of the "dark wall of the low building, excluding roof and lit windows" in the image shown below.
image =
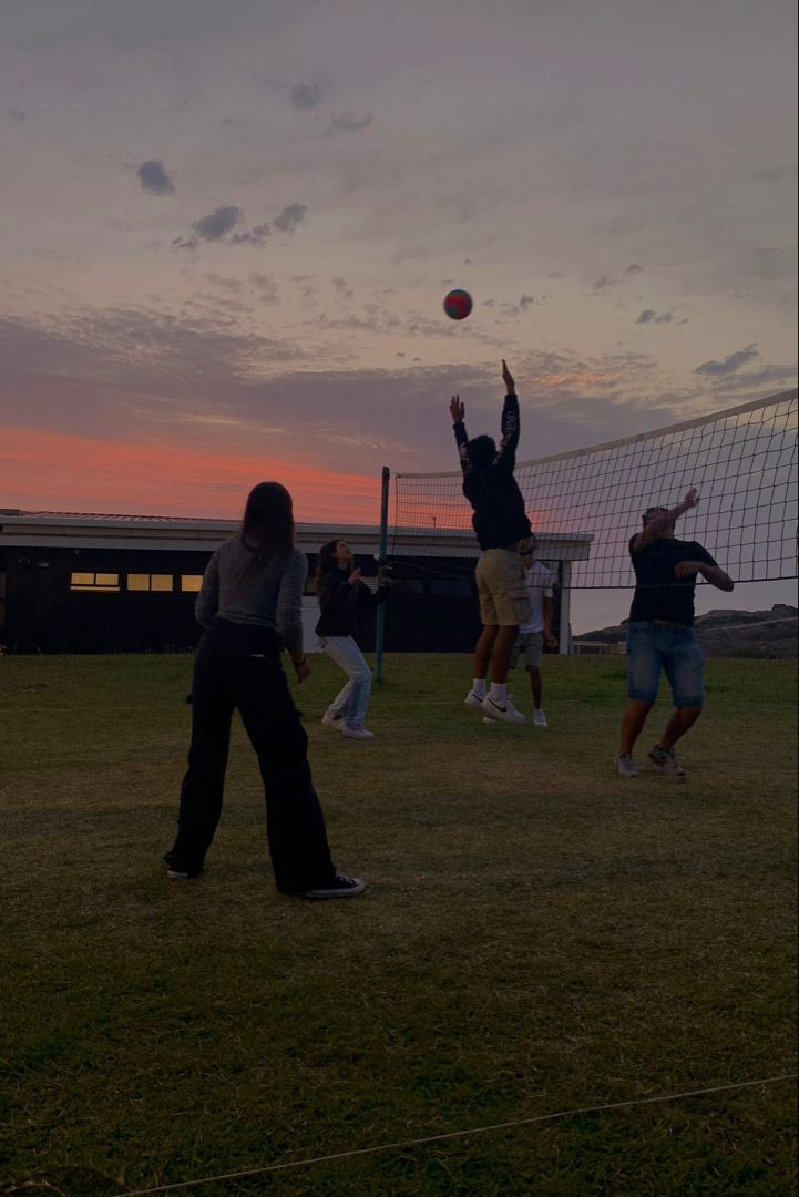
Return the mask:
M11 652L147 652L193 649L201 634L194 618L196 593L182 593L182 575L199 576L209 551L24 548L0 549L0 644ZM5 555L5 567L4 567ZM364 576L374 559L356 557ZM309 557L307 593L316 558ZM78 591L73 573L118 575L120 589ZM128 575L171 575L171 593L133 591ZM402 559L391 572L386 604L388 652L469 652L481 624L474 561ZM556 591L556 613L559 608ZM364 615L359 643L374 648L376 616Z

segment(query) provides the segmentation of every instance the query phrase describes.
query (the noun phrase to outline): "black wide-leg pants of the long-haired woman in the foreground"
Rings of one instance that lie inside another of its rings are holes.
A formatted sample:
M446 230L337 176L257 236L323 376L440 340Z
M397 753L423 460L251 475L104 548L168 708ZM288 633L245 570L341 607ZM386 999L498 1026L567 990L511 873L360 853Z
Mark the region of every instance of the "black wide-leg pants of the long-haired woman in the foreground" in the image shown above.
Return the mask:
M258 757L277 889L312 889L335 869L307 761L307 735L280 662L277 633L216 618L197 648L189 768L181 789L172 868L202 869L222 807L231 719L238 709Z

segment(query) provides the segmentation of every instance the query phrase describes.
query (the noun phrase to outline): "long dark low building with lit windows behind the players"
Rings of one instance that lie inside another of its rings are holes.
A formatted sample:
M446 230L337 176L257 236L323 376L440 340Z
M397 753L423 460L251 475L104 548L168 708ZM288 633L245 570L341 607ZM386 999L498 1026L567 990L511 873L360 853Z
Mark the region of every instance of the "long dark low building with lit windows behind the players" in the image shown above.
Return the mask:
M0 644L8 652L161 652L195 646L194 603L213 551L232 519L75 515L0 509ZM377 528L298 524L309 557L306 643L315 648L313 569L319 546L343 536L364 578L377 576ZM538 557L559 579L555 626L568 630L571 563L588 535L541 535ZM389 652L466 652L480 633L470 533L392 535ZM362 646L374 644L365 620ZM568 634L561 637L568 651ZM318 645L316 645L318 648Z

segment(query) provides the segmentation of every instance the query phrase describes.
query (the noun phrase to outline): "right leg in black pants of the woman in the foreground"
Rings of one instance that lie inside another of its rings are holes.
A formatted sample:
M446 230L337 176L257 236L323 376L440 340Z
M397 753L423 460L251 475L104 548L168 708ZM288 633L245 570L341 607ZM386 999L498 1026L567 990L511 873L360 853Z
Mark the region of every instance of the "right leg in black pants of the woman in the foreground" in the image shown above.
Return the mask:
M267 838L277 889L303 893L335 877L324 816L311 778L307 735L276 648L242 657L236 705L258 757L267 803Z

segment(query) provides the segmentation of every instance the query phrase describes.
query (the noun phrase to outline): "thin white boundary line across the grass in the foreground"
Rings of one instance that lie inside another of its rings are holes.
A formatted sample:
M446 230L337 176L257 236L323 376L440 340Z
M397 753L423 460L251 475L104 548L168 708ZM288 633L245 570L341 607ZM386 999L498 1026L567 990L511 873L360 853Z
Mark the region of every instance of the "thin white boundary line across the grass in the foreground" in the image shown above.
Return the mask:
M538 1114L536 1118L518 1118L513 1122L492 1123L487 1126L472 1126L469 1130L451 1130L444 1135L428 1135L425 1138L407 1138L397 1143L380 1143L377 1147L361 1147L353 1152L334 1152L331 1155L316 1155L307 1160L289 1160L288 1163L269 1163L263 1168L249 1168L246 1172L226 1172L219 1177L202 1177L199 1180L178 1180L171 1185L157 1185L154 1189L129 1189L114 1193L114 1197L150 1197L152 1193L175 1192L177 1189L193 1189L197 1185L212 1185L224 1180L243 1180L246 1177L260 1177L267 1172L286 1172L288 1168L309 1167L312 1163L329 1163L333 1160L349 1160L356 1155L376 1155L378 1152L398 1152L408 1147L422 1147L427 1143L441 1143L447 1138L464 1138L466 1135L482 1135L490 1130L510 1130L512 1126L531 1126L533 1123L553 1122L556 1118L575 1118L579 1114L598 1114L606 1110L629 1110L632 1106L647 1106L658 1101L679 1101L684 1098L705 1098L713 1093L728 1093L732 1089L749 1089L757 1084L776 1084L780 1081L795 1081L799 1074L787 1073L783 1076L767 1076L760 1081L738 1081L733 1084L716 1084L709 1089L691 1089L685 1093L666 1093L657 1098L633 1098L629 1101L611 1101L603 1106L583 1106L579 1110L560 1110L551 1114Z

